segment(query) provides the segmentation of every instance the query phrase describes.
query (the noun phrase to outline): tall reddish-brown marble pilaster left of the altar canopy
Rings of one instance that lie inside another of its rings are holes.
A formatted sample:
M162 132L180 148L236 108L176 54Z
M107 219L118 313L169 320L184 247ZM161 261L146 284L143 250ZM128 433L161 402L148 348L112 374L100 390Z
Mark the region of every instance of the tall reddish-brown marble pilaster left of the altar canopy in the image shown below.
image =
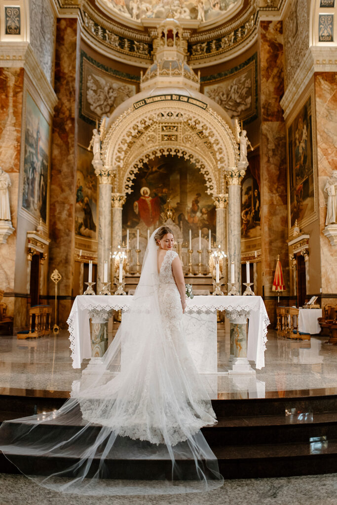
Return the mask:
M77 21L59 19L55 65L55 107L52 133L52 167L50 184L50 246L49 275L57 269L59 283L60 324L70 312L75 248L76 205L76 51ZM50 281L49 294L55 292Z

